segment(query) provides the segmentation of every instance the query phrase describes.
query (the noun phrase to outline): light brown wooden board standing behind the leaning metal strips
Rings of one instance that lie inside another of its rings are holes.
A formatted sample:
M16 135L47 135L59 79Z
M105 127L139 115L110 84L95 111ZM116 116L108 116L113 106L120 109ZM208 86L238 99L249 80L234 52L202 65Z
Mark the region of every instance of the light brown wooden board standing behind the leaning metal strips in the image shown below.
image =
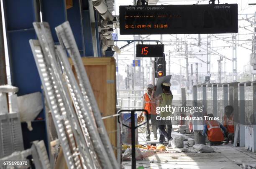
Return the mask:
M69 60L71 65L72 61ZM102 117L116 114L115 59L113 57L82 57L92 90ZM72 70L76 76L74 66ZM114 147L117 146L117 119L104 119L104 124ZM116 150L114 149L115 154Z

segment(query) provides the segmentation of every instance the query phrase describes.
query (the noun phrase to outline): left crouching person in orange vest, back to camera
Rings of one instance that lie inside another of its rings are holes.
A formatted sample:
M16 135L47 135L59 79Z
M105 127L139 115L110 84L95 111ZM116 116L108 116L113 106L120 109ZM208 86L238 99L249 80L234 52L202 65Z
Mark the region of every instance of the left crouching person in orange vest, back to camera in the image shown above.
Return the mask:
M208 114L208 117L213 118L213 114ZM224 131L224 133L227 132L227 129L218 121L208 120L205 122L204 131L202 132L202 135L205 136L205 134L207 134L208 140L210 141L210 145L217 146L222 144L224 140L224 135L221 129Z

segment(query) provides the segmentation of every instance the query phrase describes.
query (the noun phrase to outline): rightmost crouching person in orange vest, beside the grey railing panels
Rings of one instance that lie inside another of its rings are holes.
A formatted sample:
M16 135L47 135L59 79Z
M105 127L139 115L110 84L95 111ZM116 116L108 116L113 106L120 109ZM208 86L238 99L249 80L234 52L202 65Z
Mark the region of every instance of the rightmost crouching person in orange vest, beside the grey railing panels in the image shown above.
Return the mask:
M228 129L227 136L228 139L225 143L229 143L231 140L231 143L234 143L234 114L233 114L234 108L230 105L225 107L225 116L224 116L224 126Z

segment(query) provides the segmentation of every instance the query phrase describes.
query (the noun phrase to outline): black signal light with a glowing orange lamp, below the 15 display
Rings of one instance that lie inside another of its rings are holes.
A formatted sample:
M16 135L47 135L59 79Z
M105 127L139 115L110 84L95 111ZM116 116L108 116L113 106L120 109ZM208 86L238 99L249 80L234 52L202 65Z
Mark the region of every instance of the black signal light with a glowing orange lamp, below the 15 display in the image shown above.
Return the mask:
M165 67L165 55L163 57L155 57L155 78L166 76L166 67Z

